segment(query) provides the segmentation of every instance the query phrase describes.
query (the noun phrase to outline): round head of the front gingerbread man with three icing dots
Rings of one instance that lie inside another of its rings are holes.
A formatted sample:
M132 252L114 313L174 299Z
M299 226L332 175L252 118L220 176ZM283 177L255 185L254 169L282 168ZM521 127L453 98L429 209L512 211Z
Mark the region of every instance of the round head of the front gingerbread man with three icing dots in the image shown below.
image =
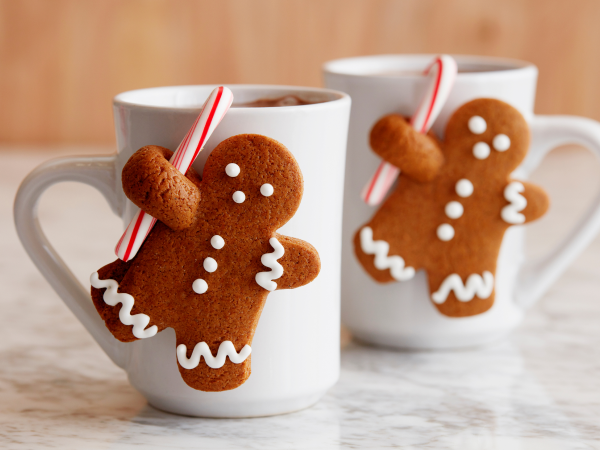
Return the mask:
M294 156L266 136L240 134L221 142L206 161L203 185L230 220L275 231L292 218L303 180Z

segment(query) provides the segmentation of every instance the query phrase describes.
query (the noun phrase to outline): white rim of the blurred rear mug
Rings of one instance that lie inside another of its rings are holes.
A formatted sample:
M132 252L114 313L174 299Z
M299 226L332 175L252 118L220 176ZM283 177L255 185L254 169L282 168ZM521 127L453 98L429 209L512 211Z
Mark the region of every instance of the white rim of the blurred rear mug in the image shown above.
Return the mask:
M356 78L370 78L370 79L418 79L422 78L419 73L415 74L377 74L376 68L381 66L393 66L400 62L408 62L413 67L419 66L419 70L424 70L425 67L438 56L439 53L399 53L399 54L383 54L383 55L367 55L367 56L354 56L350 58L340 58L327 61L322 66L324 74L331 75L343 75L347 77ZM473 72L459 72L457 79L472 79L482 78L490 76L514 76L514 75L526 75L531 72L537 74L538 69L535 64L528 61L523 61L514 58L503 58L496 56L478 56L478 55L451 55L460 67L463 66L478 66L483 68L481 71ZM363 67L369 66L371 70L357 70L356 68L351 69L352 66L356 67L362 65ZM350 69L349 69L350 68ZM489 68L489 69L488 69ZM381 69L379 69L381 70ZM415 69L416 70L416 69Z

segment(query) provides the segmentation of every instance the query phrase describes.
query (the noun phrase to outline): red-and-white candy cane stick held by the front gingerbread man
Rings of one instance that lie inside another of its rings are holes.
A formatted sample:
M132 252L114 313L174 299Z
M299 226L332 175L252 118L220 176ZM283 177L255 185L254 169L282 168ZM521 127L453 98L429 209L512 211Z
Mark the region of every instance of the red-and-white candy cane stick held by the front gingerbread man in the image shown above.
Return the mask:
M187 132L169 161L177 170L183 174L188 171L210 135L229 110L232 102L233 94L224 86L220 86L211 92L194 125ZM125 262L132 259L155 223L156 219L154 217L140 209L133 216L125 233L123 233L115 247L115 253L119 259Z

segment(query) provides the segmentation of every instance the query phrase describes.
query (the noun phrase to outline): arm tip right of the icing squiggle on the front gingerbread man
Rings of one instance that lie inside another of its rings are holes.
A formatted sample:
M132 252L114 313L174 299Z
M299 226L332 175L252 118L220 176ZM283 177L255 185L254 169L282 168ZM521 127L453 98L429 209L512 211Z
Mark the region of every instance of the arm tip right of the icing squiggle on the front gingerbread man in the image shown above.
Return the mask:
M294 289L314 280L321 270L317 250L301 239L278 234L277 240L285 253L277 260L283 266L283 275L274 280L277 289Z

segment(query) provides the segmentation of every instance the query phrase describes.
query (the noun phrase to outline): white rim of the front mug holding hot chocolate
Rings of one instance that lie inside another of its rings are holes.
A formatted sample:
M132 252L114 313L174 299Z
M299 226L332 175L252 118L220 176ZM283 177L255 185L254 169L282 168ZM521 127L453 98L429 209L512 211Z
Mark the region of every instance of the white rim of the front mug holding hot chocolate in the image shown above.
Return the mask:
M234 94L236 90L248 90L248 91L276 91L281 92L280 96L293 95L293 94L305 94L305 95L328 95L330 98L319 103L310 103L308 105L292 105L292 106L264 106L264 107L252 107L252 106L232 106L228 114L235 113L235 111L273 111L274 109L285 111L293 111L298 108L304 110L308 108L323 108L330 106L337 106L350 101L350 96L342 91L326 88L315 88L308 86L288 86L288 85L275 85L275 84L190 84L190 85L173 85L173 86L156 86L151 88L133 89L130 91L121 92L113 97L114 107L126 107L128 109L137 110L154 110L154 111L177 111L177 112L193 112L199 111L202 108L202 103L194 106L168 106L152 104L151 102L140 102L134 101L130 97L141 96L145 94L157 94L160 91L163 93L175 93L177 91L184 90L200 90L200 89L214 89L219 86L226 86L230 88Z

